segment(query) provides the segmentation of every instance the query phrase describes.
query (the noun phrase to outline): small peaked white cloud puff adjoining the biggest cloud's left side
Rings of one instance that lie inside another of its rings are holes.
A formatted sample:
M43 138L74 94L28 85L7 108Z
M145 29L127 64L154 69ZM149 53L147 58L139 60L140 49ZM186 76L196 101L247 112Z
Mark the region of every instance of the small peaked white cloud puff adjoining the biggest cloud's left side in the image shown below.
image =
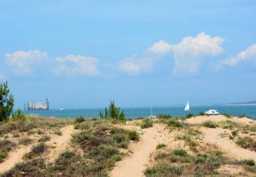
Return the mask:
M164 40L159 40L152 47L149 47L149 52L154 53L168 53L173 50L173 45L165 42Z

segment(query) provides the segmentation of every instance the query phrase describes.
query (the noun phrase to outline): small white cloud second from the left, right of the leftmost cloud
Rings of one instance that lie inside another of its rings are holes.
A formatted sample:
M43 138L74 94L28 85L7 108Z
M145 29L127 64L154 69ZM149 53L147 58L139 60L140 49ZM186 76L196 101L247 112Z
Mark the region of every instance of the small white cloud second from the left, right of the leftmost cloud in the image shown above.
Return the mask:
M100 74L97 68L99 61L94 57L68 55L66 57L57 57L55 60L58 62L58 66L54 70L55 74L81 74L87 76Z

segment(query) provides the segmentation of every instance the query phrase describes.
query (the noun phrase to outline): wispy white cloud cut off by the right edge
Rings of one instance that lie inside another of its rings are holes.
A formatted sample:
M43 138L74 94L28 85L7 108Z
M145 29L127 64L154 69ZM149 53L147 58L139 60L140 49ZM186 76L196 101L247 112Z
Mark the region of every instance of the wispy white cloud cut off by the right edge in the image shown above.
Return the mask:
M235 57L230 57L229 59L225 59L221 61L217 69L221 69L223 65L228 65L229 67L235 67L240 62L246 61L255 61L256 62L256 44L247 47L246 50L239 52Z

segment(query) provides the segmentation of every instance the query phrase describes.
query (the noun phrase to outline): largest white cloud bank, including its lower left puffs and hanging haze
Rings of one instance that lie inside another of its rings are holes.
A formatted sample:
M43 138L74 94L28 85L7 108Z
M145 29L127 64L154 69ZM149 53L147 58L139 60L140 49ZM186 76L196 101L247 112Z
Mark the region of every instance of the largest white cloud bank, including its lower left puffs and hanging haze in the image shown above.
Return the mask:
M174 74L196 74L200 69L201 62L206 57L219 55L223 52L223 41L223 38L211 37L204 32L199 33L194 38L187 36L176 45L160 40L149 47L142 55L143 57L135 56L124 59L120 62L119 68L128 74L139 74L152 69L159 57L173 55Z

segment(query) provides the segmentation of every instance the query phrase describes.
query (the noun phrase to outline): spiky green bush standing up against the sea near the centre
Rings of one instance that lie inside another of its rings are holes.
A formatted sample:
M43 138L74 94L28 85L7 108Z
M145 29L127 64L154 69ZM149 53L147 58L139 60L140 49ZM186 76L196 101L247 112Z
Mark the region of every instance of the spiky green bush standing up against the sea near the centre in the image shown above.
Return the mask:
M114 119L114 120L125 120L125 113L124 110L120 112L120 108L114 105L114 101L110 101L109 108L105 108L105 115L103 115L102 111L100 110L100 118L105 119Z

